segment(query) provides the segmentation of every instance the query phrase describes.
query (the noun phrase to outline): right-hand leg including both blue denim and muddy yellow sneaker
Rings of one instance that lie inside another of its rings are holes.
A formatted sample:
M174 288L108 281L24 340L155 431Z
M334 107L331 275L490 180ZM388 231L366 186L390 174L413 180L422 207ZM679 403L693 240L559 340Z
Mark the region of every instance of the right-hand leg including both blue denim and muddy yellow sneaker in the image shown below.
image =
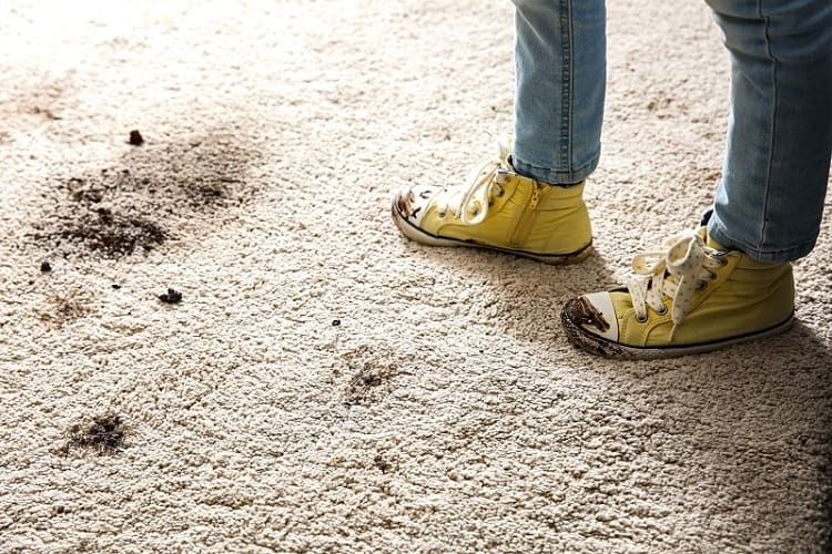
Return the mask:
M637 256L626 289L564 307L569 340L596 353L700 352L792 321L789 261L814 245L832 154L832 2L708 3L732 68L726 168L708 232Z

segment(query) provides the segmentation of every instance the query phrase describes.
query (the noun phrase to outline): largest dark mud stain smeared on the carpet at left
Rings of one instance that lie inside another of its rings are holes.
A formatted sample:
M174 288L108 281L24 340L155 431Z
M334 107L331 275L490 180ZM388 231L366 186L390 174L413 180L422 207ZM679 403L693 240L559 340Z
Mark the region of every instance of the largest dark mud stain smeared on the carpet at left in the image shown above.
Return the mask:
M27 237L53 255L119 259L187 238L200 220L215 229L220 211L256 192L247 179L256 157L222 132L182 142L145 137L113 165L50 179L52 206Z

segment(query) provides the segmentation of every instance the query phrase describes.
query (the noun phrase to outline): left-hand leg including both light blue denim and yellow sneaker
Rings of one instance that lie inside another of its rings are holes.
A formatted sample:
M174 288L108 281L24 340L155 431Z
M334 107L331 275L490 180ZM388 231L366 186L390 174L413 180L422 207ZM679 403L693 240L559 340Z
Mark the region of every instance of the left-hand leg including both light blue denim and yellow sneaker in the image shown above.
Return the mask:
M513 146L476 167L466 184L403 187L393 199L393 219L423 244L578 261L592 242L582 181L600 153L605 0L514 3Z

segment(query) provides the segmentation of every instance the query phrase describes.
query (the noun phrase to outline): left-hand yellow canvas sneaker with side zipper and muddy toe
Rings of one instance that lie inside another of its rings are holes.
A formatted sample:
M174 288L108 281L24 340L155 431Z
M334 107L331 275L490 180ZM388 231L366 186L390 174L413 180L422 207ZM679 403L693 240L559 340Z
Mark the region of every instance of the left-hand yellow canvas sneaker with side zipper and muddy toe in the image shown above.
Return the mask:
M552 186L515 172L509 150L446 188L406 186L393 199L402 233L433 246L475 246L544 261L586 258L592 243L584 183Z

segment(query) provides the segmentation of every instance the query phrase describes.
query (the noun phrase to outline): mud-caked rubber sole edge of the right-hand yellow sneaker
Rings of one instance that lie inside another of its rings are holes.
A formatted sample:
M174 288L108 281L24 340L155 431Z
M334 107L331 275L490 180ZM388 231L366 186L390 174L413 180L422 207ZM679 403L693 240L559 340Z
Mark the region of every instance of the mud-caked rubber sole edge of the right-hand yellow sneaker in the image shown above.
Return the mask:
M789 316L785 321L768 329L742 335L739 337L731 337L729 339L717 340L713 342L666 348L630 347L585 331L570 316L572 311L579 309L576 302L577 299L569 300L566 306L564 306L564 309L560 312L560 319L564 322L564 329L566 330L566 337L569 342L588 352L617 360L659 360L666 358L677 358L679 356L710 352L712 350L748 342L750 340L760 340L767 337L779 335L783 331L789 330L789 328L794 322L794 314L792 312L792 315Z

